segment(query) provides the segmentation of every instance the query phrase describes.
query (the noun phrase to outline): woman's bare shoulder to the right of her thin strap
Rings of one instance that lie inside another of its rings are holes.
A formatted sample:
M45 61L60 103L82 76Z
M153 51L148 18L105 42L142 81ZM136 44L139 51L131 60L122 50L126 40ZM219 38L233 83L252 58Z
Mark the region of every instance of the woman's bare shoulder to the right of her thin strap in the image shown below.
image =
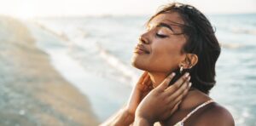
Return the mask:
M196 114L196 126L234 126L235 122L230 112L218 103L211 103Z

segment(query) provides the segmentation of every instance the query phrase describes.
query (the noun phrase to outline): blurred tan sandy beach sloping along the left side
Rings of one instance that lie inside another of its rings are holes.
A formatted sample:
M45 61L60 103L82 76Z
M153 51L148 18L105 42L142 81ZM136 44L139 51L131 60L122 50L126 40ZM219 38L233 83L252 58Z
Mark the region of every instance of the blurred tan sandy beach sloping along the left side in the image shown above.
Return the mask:
M0 17L0 125L97 125L88 98L35 41L24 23Z

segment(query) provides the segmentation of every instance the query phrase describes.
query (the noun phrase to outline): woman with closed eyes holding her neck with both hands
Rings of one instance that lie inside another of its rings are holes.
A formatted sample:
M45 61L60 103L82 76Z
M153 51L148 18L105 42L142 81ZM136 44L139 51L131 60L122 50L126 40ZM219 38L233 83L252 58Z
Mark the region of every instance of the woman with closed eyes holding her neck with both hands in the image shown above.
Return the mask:
M132 65L145 73L127 106L103 125L234 125L230 112L208 96L216 83L220 46L205 15L193 6L172 3L154 14L147 26L132 58ZM184 70L190 76L168 87L174 74L167 76ZM189 79L190 88L185 86Z

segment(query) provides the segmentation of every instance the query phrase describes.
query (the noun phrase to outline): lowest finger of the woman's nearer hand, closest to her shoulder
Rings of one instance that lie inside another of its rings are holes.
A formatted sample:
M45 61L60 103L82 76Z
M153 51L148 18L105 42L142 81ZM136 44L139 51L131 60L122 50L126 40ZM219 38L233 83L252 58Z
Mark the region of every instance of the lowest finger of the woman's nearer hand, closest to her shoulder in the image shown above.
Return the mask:
M176 96L171 96L168 98L167 101L169 102L170 106L174 106L179 100L182 100L188 94L191 83L184 85L187 85L187 87L183 90L183 92L175 94Z

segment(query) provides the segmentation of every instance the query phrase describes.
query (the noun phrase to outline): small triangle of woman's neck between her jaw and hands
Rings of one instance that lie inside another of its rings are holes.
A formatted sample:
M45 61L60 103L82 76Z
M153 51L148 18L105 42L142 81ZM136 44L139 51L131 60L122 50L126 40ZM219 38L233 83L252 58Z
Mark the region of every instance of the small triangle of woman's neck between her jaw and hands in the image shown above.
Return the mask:
M160 83L162 83L169 74L170 73L165 72L148 72L154 88L160 85Z

